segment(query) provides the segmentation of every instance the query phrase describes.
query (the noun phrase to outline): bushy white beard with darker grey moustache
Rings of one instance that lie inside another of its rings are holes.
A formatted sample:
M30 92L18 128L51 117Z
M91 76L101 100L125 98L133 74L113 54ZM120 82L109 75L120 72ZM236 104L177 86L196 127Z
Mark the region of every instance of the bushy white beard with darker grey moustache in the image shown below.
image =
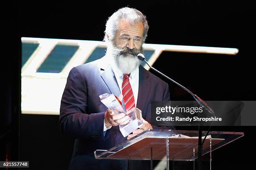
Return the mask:
M141 50L127 47L120 49L113 42L109 42L106 52L113 57L115 64L123 74L130 74L141 65L141 60L137 57L139 53L143 54L142 45Z

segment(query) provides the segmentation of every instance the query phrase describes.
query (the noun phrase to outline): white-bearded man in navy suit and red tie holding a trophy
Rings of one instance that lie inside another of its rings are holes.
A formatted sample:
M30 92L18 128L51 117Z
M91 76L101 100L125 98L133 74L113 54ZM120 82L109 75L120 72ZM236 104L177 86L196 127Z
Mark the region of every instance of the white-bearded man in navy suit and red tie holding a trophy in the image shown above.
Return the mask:
M74 67L64 89L59 125L63 135L75 138L69 169L127 170L150 167L146 161L95 160L94 151L113 146L148 129L173 129L150 124L151 101L169 100L169 86L145 70L137 55L143 53L148 23L146 16L133 8L121 8L108 19L106 55L99 60ZM126 111L137 107L143 124L126 138L118 125L129 117L118 115L100 102L104 93L123 96Z

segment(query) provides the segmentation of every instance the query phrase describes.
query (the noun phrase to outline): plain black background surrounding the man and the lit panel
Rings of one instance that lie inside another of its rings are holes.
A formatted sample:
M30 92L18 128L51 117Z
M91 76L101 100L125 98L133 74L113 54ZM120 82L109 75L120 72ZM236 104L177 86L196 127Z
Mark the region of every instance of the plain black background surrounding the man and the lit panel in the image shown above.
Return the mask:
M238 55L163 52L154 67L204 100L256 100L253 5L233 1L205 3L10 2L3 5L0 160L29 160L31 169L67 169L73 139L62 137L57 115L20 114L20 37L103 40L105 22L120 7L135 7L148 18L146 43L235 47ZM163 78L164 79L164 78ZM192 100L169 83L171 100ZM255 110L252 110L255 114ZM187 129L178 127L178 129ZM194 128L195 129L195 128ZM213 152L213 169L253 164L255 127L213 127L245 136Z

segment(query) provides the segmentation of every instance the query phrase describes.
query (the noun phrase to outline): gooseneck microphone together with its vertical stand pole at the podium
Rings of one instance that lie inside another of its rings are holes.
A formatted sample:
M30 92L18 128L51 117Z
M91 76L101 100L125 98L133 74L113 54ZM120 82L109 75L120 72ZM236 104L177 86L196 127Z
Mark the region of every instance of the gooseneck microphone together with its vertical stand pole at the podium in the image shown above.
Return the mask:
M138 57L139 60L145 61L146 64L147 64L152 70L154 70L155 72L159 73L160 75L166 77L168 80L174 82L175 84L177 84L178 86L182 87L184 90L186 90L187 92L189 92L189 93L194 97L194 99L197 101L197 103L198 103L201 107L205 108L208 112L210 112L212 115L214 115L214 111L212 110L211 107L209 107L209 106L207 105L207 103L206 103L204 100L202 100L200 97L198 97L197 95L195 95L194 93L192 93L190 90L188 90L188 89L187 89L186 87L184 87L183 85L181 85L181 84L179 84L178 82L172 80L170 77L164 75L164 74L161 73L160 71L156 70L154 67L151 67L151 66L148 64L148 62L145 60L145 57L144 57L143 54L140 53L140 54L138 54L137 57ZM212 124L211 124L211 125L212 125ZM207 135L209 134L209 132L210 132L211 125L210 125L210 127L209 127L209 129L208 129L208 131L207 131L207 133L206 133L206 135L205 135L204 140L202 141L202 128L201 128L201 126L200 126L200 122L198 122L198 162L197 162L197 170L202 170L202 145L203 145L203 143L205 142L206 136L207 136Z

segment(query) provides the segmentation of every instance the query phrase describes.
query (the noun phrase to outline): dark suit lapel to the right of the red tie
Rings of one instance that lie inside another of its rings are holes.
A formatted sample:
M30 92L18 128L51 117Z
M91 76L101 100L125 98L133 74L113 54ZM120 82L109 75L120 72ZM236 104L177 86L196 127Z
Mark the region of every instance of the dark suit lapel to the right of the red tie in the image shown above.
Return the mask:
M151 87L151 82L148 80L148 72L140 65L139 67L139 89L138 89L138 99L137 108L141 110L142 117L146 116L143 112L145 109L146 102L148 101L148 95Z

